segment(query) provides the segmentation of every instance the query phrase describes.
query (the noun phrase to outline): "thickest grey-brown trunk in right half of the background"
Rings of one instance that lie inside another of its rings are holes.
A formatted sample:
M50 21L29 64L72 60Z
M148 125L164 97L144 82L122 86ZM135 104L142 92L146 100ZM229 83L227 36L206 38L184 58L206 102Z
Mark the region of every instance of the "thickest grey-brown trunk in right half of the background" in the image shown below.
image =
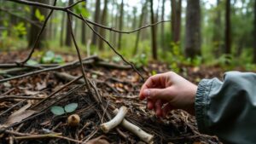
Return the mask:
M186 12L185 55L194 58L201 55L200 0L188 0Z

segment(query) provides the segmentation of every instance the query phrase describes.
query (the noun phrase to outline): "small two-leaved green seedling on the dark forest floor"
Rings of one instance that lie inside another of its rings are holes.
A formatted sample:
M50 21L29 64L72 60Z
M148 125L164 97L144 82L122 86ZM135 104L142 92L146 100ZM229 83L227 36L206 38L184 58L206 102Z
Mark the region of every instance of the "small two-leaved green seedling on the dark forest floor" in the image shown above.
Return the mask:
M77 109L78 106L78 103L67 104L64 108L60 106L54 106L50 108L50 112L54 113L57 116L60 116L64 113L73 112Z

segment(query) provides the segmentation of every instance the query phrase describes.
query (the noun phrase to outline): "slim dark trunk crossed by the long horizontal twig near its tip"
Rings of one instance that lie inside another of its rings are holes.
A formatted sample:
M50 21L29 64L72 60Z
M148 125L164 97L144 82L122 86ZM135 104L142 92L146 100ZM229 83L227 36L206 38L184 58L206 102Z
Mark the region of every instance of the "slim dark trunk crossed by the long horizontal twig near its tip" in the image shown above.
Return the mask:
M154 24L154 9L153 0L150 0L150 13L151 23ZM155 26L151 26L151 38L152 38L152 56L154 60L157 60L157 45L156 45L156 32Z

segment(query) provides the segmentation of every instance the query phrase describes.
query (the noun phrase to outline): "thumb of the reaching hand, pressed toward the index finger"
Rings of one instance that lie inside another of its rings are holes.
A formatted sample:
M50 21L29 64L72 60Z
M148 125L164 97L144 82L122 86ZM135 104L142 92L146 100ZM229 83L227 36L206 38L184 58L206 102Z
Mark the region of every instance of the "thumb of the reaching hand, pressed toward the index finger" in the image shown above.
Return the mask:
M170 89L144 89L143 95L148 99L161 99L161 100L168 100L170 99L171 91Z

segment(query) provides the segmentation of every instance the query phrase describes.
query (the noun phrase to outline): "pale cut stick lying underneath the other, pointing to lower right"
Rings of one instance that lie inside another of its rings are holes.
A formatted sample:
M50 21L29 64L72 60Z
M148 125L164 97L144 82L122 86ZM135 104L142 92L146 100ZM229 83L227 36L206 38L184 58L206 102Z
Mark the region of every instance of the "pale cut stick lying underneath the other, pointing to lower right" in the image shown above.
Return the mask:
M120 111L120 110L119 110ZM119 111L117 109L115 109L113 111L114 114L119 113ZM135 124L131 124L129 121L125 120L125 118L123 119L123 121L121 122L121 125L126 129L131 131L131 133L137 135L137 137L139 137L141 140L147 142L147 143L153 143L153 138L154 135L150 135L147 132L145 132L144 130L142 130L141 128L137 127L137 125Z

